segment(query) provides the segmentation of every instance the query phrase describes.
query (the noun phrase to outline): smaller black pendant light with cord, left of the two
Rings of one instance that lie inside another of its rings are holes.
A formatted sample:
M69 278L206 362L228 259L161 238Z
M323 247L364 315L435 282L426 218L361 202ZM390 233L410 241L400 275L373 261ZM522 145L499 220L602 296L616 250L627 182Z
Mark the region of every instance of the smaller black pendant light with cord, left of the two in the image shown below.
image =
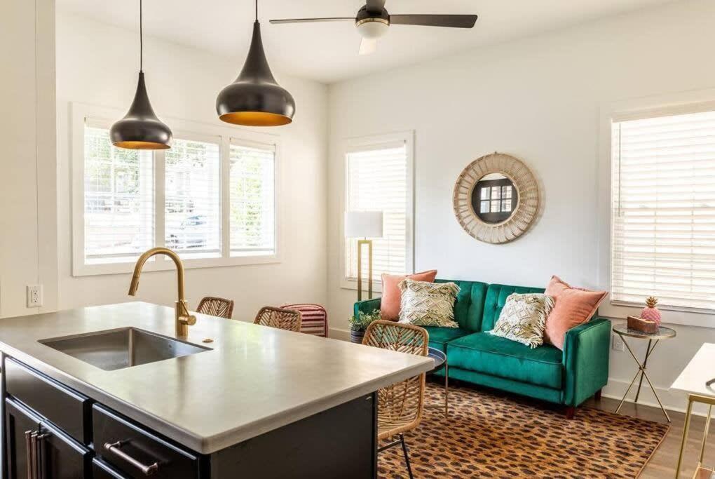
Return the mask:
M144 84L144 31L142 0L139 0L139 84L127 115L109 129L115 147L127 149L168 149L172 147L172 130L154 113Z

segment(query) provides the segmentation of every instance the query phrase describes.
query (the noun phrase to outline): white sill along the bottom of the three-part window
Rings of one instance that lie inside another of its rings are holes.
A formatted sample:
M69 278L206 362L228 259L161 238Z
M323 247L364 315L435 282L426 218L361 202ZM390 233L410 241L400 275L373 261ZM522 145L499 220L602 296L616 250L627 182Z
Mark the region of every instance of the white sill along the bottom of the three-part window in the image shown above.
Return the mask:
M142 271L169 271L175 270L174 262L164 256L155 256L155 261L148 261ZM194 258L182 261L184 269L197 270L213 267L232 267L250 265L275 265L281 262L280 255L261 256L236 256L220 258ZM99 276L99 275L126 275L134 272L136 261L104 263L94 265L74 265L72 268L73 277Z

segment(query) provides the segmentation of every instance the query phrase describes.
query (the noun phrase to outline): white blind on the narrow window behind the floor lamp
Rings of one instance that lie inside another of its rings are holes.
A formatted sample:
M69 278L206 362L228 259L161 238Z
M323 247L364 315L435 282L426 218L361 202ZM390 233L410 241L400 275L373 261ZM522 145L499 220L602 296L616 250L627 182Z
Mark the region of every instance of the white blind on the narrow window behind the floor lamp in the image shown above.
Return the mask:
M346 211L382 211L383 238L373 241L373 277L408 273L408 154L405 142L354 148L346 155ZM363 271L368 255L363 255ZM345 242L345 277L358 277L357 240Z

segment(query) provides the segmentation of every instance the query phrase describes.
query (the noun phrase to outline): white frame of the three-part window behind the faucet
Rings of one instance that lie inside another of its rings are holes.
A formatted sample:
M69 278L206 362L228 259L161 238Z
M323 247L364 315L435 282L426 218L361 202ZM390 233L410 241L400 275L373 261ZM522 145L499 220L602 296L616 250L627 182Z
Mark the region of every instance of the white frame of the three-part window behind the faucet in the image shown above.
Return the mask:
M71 196L71 258L72 276L118 275L134 270L136 260L123 262L87 264L84 261L84 125L85 122L109 129L124 112L109 107L98 107L89 104L71 103L69 147L71 162L70 196ZM282 161L281 137L277 134L253 132L242 128L224 127L217 124L191 122L182 119L165 119L172 126L174 136L180 139L196 139L198 141L217 142L220 146L220 217L221 217L221 255L210 258L187 258L184 267L208 268L230 267L242 265L267 265L282 261ZM269 147L275 151L274 168L274 201L275 201L275 251L271 255L231 256L230 255L230 145L231 141L245 144L256 144ZM154 151L154 245L164 246L165 243L165 163L164 152ZM152 258L144 267L146 271L173 270L174 263L163 255Z

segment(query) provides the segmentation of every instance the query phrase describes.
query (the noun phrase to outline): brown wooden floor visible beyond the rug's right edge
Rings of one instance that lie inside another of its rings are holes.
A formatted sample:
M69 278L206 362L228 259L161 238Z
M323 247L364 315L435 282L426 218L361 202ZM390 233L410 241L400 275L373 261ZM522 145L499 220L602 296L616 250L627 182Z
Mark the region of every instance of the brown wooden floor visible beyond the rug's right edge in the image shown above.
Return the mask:
M590 399L584 405L591 406L607 411L616 410L618 401L603 397L601 400ZM663 412L659 408L651 408L650 406L634 405L633 403L624 403L620 414L631 415L635 418L641 418L659 423L667 423ZM578 414L578 410L576 410ZM671 429L666 435L661 447L656 450L653 458L646 465L646 468L641 474L641 478L675 478L675 468L678 464L678 455L680 453L680 444L683 438L683 426L685 424L685 414L668 411L668 414L673 420ZM688 435L688 443L686 445L686 454L684 456L684 465L681 468L680 478L692 478L695 472L695 467L700 455L701 440L705 426L705 418L701 416L693 416L690 423L690 433ZM715 465L715 425L711 424L710 434L708 436L708 444L705 450L706 465L711 467ZM702 477L702 476L701 476ZM706 476L707 477L707 476Z

